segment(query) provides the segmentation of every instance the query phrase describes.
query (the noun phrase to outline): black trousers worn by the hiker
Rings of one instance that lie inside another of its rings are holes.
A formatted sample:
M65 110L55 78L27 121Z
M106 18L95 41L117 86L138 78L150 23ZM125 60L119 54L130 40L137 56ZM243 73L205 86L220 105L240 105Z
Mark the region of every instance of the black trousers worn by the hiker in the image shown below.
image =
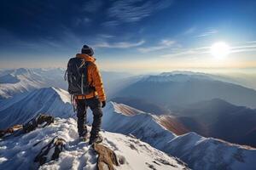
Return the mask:
M77 99L77 116L78 116L78 130L79 130L79 136L83 136L85 133L87 133L86 128L86 110L90 107L90 110L93 114L93 122L92 122L92 128L90 131L91 137L96 137L98 135L99 131L101 130L102 125L102 104L101 101L97 98L91 98L91 99Z

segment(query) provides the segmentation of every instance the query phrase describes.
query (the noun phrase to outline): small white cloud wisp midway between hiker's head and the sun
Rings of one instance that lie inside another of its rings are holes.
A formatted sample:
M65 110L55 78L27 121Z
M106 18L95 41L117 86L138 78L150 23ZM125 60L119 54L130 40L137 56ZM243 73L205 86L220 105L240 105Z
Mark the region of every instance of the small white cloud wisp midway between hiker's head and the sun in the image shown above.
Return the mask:
M146 48L137 48L138 51L142 53L148 53L152 51L158 51L160 49L165 49L165 48L171 48L176 42L172 40L162 40L158 45L156 46L150 46Z

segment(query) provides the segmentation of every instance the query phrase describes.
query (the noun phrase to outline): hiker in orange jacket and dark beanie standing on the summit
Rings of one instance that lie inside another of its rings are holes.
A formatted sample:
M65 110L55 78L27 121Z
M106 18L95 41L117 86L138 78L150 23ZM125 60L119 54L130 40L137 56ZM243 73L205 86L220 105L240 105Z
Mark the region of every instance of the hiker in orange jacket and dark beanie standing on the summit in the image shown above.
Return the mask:
M76 105L81 140L89 137L85 125L88 106L93 114L89 144L102 142L99 132L102 124L102 108L106 105L102 77L93 55L93 49L84 45L81 54L76 54L76 57L70 59L67 64L68 92L72 94Z

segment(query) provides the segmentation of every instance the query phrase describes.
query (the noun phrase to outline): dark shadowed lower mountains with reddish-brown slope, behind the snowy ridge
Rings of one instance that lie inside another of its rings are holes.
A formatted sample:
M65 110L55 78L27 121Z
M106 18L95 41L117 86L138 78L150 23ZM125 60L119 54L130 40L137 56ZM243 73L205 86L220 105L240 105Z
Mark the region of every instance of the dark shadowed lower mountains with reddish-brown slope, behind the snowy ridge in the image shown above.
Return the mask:
M256 110L245 106L232 105L223 99L211 99L183 105L166 113L164 107L149 105L143 99L116 98L113 101L158 115L160 123L173 133L196 132L205 137L256 147Z

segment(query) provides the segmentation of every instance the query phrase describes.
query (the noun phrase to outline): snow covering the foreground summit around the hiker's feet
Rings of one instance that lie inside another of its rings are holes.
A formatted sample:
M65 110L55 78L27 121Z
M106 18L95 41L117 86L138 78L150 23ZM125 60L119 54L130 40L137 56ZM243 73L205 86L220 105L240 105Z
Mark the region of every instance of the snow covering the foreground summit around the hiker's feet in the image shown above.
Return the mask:
M49 127L38 128L23 136L0 140L0 169L96 169L97 155L88 143L79 142L77 123L73 118L56 118ZM55 136L65 139L66 149L56 161L41 167L33 160L40 150ZM102 144L114 150L123 163L115 169L189 169L182 161L154 149L139 139L120 133L102 132ZM42 141L38 143L38 141ZM36 146L34 144L37 144Z

